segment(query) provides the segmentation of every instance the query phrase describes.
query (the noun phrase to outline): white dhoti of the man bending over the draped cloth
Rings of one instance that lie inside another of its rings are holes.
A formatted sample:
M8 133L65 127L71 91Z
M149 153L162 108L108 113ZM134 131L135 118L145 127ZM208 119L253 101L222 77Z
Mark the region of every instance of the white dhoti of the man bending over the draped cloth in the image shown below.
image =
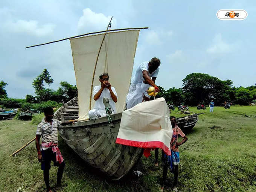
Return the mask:
M130 109L135 105L141 103L144 94L146 95L146 97L150 98L150 96L147 94L147 90L149 87L150 85L143 82L137 84L131 83L129 92L126 96L126 108Z

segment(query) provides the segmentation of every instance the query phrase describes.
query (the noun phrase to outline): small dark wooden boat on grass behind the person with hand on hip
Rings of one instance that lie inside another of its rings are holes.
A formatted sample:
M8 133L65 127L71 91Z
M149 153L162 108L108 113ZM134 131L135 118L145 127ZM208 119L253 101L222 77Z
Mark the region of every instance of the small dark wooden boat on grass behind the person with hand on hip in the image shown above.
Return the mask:
M199 114L202 114L202 113L199 113ZM194 114L189 115L189 116L178 117L176 119L178 126L181 128L181 130L183 130L185 132L192 130L192 128L198 122L198 115L199 114L194 113Z

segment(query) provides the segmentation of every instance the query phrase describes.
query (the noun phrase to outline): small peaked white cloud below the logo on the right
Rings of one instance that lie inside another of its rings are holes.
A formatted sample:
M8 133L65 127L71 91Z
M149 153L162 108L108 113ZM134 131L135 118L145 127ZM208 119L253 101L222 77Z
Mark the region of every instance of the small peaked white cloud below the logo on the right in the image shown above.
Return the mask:
M217 34L213 38L212 45L206 50L206 52L212 54L229 53L233 50L233 47L233 44L225 43L222 40L221 34Z

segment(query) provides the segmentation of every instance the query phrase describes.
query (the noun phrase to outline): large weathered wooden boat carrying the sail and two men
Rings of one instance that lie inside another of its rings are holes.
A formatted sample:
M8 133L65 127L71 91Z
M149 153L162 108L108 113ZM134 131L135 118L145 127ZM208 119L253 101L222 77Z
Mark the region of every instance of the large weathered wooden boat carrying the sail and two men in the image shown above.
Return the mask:
M123 177L140 159L143 149L116 144L122 113L94 120L77 122L75 125L60 126L62 139L82 159L100 169L113 180ZM78 118L78 99L74 98L55 112L59 120Z

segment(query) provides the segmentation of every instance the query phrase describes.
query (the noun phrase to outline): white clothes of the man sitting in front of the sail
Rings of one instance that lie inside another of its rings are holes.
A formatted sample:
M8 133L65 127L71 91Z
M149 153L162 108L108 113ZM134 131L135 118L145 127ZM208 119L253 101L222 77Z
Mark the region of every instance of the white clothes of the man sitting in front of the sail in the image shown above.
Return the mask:
M98 93L98 91L101 89L101 85L95 86L93 89L93 97L96 93ZM113 93L115 94L115 96L117 97L117 93L116 93L116 89L114 87L111 87L111 90L113 91ZM104 90L101 93L101 96L99 97L99 99L95 102L94 104L94 108L93 110L90 110L91 113L95 112L95 110L98 110L98 112L100 113L101 117L106 116L106 111L105 111L105 106L103 103L103 98L108 98L109 100L109 104L111 106L111 110L112 113L116 113L116 106L115 106L115 102L113 101L113 99L111 98L111 94L110 91L108 90L108 88L104 88ZM90 111L89 111L89 115L90 115Z

